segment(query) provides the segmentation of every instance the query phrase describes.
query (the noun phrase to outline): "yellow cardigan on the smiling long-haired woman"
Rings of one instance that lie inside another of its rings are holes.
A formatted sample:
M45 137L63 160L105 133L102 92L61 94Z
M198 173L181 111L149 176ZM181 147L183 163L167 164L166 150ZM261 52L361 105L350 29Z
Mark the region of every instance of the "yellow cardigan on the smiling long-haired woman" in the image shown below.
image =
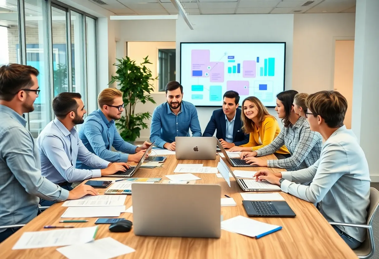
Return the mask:
M254 126L254 131L250 133L249 143L241 145L241 147L252 147L251 149L253 151L258 150L268 144L271 144L279 133L280 128L277 120L271 116L268 116L263 121L259 132L257 131L257 127ZM261 138L262 145L259 144L259 137ZM276 153L289 154L290 152L287 147L283 145L278 151L276 151Z

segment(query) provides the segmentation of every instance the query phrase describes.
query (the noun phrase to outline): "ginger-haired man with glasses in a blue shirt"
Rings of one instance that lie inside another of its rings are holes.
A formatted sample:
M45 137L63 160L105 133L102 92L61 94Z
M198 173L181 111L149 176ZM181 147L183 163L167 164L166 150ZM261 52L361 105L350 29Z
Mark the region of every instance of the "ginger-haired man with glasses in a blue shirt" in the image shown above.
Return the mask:
M122 92L116 88L106 88L97 97L99 109L91 112L79 130L79 137L89 151L110 162L136 162L142 158L151 143L145 141L141 147L122 139L115 120L121 118L124 111ZM111 147L115 150L111 151ZM90 169L88 165L77 161L77 168Z

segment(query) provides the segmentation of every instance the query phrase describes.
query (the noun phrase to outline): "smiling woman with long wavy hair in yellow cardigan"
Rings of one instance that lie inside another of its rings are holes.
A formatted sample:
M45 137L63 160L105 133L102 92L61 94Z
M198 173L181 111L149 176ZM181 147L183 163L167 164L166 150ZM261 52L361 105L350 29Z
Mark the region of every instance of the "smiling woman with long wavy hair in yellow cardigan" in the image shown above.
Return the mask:
M255 151L273 142L280 133L279 124L262 102L257 97L247 97L242 102L242 109L242 129L245 133L250 133L249 143L232 147L229 151ZM291 156L285 146L281 147L275 155L278 159Z

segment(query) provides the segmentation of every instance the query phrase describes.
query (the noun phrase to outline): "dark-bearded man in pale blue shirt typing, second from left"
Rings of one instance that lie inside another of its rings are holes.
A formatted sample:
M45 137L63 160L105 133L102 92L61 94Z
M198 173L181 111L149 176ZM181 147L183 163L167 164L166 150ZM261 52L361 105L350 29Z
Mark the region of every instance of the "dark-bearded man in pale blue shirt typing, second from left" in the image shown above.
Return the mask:
M53 100L53 111L55 119L46 125L37 138L42 176L63 189L71 190L72 183L125 172L130 167L124 162L112 163L99 158L83 145L75 129L75 125L84 122L86 114L80 94L58 94ZM77 160L92 170L77 169ZM40 204L50 206L53 202L41 200Z

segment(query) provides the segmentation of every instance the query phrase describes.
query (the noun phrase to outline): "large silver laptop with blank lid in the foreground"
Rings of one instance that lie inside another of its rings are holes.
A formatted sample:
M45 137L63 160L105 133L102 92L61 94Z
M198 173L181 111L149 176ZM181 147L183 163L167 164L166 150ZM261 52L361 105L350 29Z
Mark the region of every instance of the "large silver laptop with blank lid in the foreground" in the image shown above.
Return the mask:
M221 186L133 183L132 189L136 236L221 236Z

